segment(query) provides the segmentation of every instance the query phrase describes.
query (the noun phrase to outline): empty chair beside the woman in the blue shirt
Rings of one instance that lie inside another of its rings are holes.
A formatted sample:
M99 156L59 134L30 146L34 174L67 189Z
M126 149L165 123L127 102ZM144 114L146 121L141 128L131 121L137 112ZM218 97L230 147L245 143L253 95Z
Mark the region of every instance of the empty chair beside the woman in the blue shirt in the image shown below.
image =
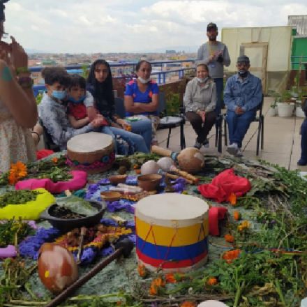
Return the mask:
M181 150L186 148L186 140L184 138L184 123L186 122L184 119L184 114L182 112L182 108L180 109L180 117L162 117L160 119L160 123L158 125L159 128L168 128L168 137L166 142L166 147L168 148L170 145L170 134L172 132L172 128L180 125L180 147ZM164 93L159 93L159 105L158 112L166 114L166 100Z

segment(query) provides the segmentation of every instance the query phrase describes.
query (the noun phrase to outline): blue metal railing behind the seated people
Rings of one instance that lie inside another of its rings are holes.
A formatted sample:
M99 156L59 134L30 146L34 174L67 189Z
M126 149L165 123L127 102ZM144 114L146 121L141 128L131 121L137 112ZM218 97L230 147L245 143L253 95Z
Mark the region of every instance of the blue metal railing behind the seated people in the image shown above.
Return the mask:
M191 67L182 67L182 63L190 62ZM190 70L193 68L193 60L173 60L173 61L152 61L149 62L153 66L153 68L157 68L160 66L161 71L153 71L151 72L151 75L157 75L157 83L158 84L164 84L167 80L167 74L170 73L178 73L179 79L184 77L184 70ZM172 70L163 70L163 66L167 63L181 63L181 67L178 69L172 69ZM119 62L119 63L109 63L110 67L123 67L126 68L128 66L132 66L132 70L135 71L135 66L137 65L137 62ZM64 66L66 70L73 70L73 69L84 69L84 68L89 68L90 66L88 65L72 65L72 66ZM40 72L44 67L39 66L39 67L29 67L29 70L31 70L32 73L38 73ZM119 77L113 77L114 79L127 79L129 80L129 77L127 76L119 76ZM33 92L35 96L38 96L39 91L45 90L45 85L35 85L33 87Z

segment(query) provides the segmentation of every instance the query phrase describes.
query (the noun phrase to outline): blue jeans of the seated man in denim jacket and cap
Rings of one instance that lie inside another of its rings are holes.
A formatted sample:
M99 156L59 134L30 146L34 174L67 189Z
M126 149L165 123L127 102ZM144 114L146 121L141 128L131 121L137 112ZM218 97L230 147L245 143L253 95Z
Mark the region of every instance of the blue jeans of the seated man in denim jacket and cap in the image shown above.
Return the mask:
M242 115L237 115L234 111L227 111L226 121L229 130L230 144L237 143L238 147L242 147L242 141L250 126L250 123L255 119L257 108L244 112Z

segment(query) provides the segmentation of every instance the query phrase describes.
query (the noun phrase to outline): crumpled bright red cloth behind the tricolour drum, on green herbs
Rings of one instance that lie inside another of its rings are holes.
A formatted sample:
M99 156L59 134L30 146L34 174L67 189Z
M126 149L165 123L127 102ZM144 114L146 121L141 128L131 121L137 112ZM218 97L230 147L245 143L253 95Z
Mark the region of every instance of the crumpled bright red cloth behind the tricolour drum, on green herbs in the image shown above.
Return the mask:
M234 170L225 170L212 180L211 184L202 184L198 190L202 196L213 198L216 202L225 202L232 193L241 197L251 188L250 181L246 178L238 177Z

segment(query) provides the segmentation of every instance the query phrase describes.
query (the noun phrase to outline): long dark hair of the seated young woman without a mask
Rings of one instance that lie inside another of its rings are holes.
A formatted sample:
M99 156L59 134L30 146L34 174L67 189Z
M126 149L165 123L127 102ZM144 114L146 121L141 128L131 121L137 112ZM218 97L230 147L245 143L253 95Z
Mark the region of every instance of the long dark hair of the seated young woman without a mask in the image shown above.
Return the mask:
M103 82L98 82L95 77L95 69L98 65L103 64L107 67L107 78ZM114 94L113 94L113 82L112 82L112 73L109 63L105 60L97 60L91 64L91 69L89 70L89 77L87 77L87 84L91 84L95 89L94 99L100 100L102 97L98 97L100 91L98 87L102 87L103 93L105 95L105 100L107 100L108 105L114 105Z

